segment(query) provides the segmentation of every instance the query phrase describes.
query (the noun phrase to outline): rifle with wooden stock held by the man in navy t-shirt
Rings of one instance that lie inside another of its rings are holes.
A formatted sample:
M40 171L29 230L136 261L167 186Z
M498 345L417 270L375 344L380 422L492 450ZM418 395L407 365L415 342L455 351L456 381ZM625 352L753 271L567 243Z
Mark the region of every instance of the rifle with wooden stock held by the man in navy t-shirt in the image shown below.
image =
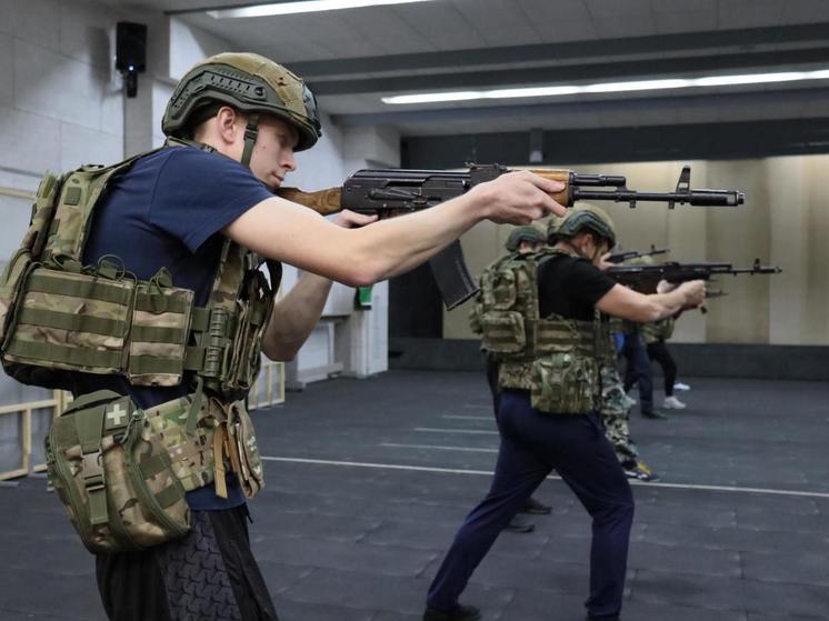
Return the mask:
M277 194L322 214L350 209L358 213L376 213L380 218L387 218L435 207L506 172L509 172L509 169L500 164L472 164L463 172L360 170L349 177L341 188L329 188L318 192L281 188ZM688 166L682 169L673 192L632 191L628 189L625 177L615 174L580 174L571 170L533 172L565 184L560 192L552 194L552 198L565 207L571 207L579 200L626 202L631 208L640 201L667 202L669 209L677 204L737 207L745 201L745 194L736 190L691 189L691 168ZM436 254L429 263L448 309L455 308L478 291L478 286L463 260L459 241L456 240Z

